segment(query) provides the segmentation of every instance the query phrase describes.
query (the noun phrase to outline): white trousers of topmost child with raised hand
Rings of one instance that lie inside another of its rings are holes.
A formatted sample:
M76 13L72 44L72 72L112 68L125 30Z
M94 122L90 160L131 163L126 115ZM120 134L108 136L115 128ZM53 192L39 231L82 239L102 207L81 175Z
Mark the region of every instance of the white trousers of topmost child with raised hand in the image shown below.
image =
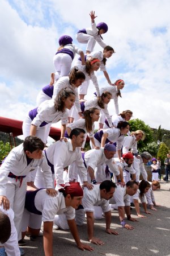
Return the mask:
M78 40L79 43L87 44L86 51L92 52L94 50L96 44L94 36L78 33L76 34L76 40Z

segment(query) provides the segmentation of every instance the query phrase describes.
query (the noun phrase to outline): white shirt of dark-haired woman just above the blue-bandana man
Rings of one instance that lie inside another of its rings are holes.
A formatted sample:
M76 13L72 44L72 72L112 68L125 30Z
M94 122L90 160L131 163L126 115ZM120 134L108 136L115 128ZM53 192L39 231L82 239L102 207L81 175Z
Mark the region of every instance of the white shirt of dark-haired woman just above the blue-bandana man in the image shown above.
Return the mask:
M112 127L109 129L103 130L103 134L107 133L108 134L108 140L111 142L116 142L117 143L117 149L121 150L122 145L124 143L125 135L121 135L120 129Z

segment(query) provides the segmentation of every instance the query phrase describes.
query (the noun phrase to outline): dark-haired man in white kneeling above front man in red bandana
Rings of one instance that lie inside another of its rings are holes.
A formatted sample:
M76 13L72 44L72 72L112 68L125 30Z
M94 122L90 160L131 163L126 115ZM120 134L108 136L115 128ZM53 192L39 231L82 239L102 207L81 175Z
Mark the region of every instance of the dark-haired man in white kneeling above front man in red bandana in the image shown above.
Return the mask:
M84 187L88 187L88 189L93 188L92 185L87 182L87 170L84 167L82 152L80 150L84 142L84 134L85 131L83 129L75 128L71 131L70 139L67 142L57 141L46 149L45 156L48 160L48 164L54 170L56 189L62 188L62 184L64 184L64 168L74 162L82 176Z

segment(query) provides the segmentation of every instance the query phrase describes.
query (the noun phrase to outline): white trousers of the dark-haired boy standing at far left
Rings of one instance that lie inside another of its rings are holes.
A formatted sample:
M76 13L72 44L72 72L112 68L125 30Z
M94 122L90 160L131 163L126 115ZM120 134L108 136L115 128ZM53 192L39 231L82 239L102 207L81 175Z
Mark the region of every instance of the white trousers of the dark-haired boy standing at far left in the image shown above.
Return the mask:
M22 234L22 216L25 204L25 194L27 190L27 177L24 177L22 184L20 179L7 177L8 182L6 184L6 197L10 201L10 207L14 210L14 223L18 233L18 241L21 240Z

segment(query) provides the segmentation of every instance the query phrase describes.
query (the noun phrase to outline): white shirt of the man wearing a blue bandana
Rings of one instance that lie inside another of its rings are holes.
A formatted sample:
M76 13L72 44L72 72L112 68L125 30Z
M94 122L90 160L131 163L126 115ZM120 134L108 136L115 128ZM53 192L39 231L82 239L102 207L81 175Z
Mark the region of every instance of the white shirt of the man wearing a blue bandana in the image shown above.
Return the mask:
M95 170L97 166L100 166L105 163L108 165L110 172L114 173L116 176L120 175L120 171L118 170L117 164L114 162L114 159L107 159L105 157L104 148L100 148L99 150L88 150L84 154L84 160L86 162L87 170L89 166L93 170Z

